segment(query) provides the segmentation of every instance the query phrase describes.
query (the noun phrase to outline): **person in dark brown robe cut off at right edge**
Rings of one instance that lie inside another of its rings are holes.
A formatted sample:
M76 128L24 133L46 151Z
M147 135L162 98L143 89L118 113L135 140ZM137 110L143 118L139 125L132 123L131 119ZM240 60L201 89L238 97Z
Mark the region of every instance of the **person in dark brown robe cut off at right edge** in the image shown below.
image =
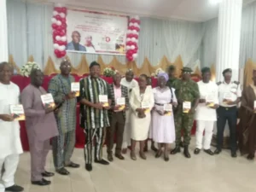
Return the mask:
M239 149L247 160L253 160L256 150L256 70L253 70L253 83L248 85L241 96L239 123Z

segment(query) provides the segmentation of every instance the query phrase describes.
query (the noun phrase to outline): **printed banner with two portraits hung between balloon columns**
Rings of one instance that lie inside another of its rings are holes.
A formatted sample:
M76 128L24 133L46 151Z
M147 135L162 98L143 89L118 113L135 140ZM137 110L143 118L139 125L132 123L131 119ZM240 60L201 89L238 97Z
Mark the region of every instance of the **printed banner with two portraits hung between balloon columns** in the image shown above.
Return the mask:
M67 10L67 52L125 55L129 17Z

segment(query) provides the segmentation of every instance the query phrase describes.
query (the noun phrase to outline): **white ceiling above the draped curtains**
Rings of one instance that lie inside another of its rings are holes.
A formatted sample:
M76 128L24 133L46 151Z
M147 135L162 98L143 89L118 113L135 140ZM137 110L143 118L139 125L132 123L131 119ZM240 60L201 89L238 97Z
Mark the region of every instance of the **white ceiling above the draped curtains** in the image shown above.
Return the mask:
M101 9L127 15L166 19L206 21L218 16L218 3L212 0L26 0L38 3L62 3L67 7ZM234 0L235 1L235 0ZM243 0L244 5L254 0Z

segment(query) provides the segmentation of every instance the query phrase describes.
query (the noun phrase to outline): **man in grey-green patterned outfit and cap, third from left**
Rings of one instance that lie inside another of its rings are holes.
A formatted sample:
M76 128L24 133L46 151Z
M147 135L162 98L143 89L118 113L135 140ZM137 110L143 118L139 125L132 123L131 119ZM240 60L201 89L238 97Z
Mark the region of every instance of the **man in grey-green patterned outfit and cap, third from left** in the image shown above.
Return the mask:
M77 100L72 84L75 80L70 74L69 61L61 61L61 74L50 79L48 92L52 94L55 104L61 105L55 119L58 125L59 135L52 139L53 159L55 171L61 175L68 175L66 167L79 168L79 164L73 163L71 157L76 142L76 106Z

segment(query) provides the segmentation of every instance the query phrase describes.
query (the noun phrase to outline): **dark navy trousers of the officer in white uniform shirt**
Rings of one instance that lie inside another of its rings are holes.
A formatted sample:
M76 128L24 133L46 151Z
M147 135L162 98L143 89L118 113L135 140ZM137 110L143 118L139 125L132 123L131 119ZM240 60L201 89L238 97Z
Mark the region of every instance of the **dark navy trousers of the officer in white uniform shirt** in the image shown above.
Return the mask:
M236 121L237 121L237 108L219 107L217 109L217 148L221 149L223 146L224 128L228 121L230 127L230 149L236 151Z

